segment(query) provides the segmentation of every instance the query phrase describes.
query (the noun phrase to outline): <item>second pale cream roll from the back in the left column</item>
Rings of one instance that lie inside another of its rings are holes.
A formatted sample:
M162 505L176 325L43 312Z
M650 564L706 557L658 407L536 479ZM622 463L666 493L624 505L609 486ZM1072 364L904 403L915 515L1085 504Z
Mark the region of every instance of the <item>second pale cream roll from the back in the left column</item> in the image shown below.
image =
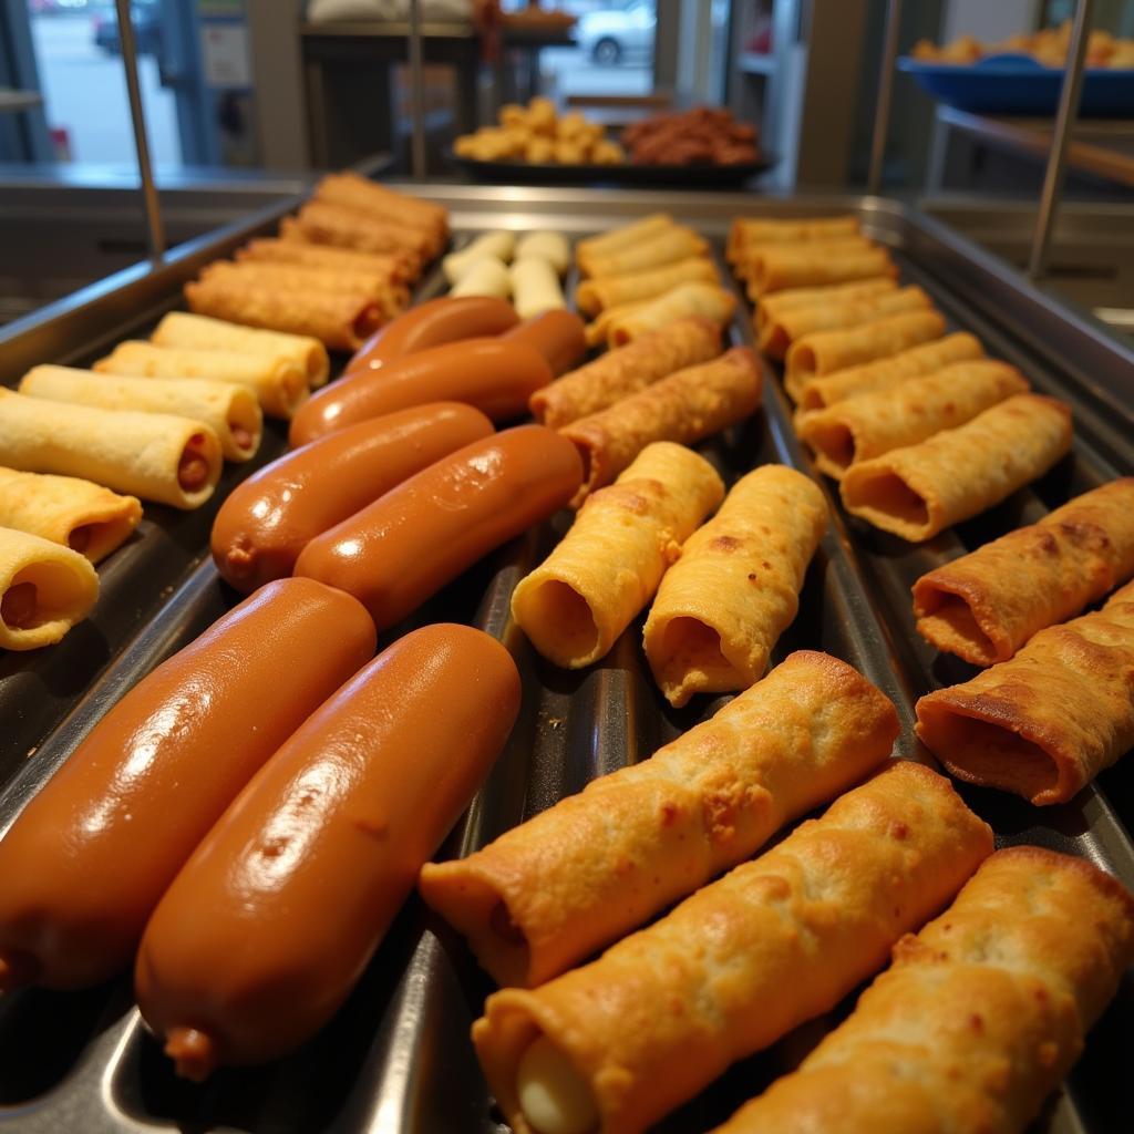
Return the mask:
M307 373L290 358L193 350L128 340L94 364L101 374L235 382L251 390L270 417L290 417L311 392Z

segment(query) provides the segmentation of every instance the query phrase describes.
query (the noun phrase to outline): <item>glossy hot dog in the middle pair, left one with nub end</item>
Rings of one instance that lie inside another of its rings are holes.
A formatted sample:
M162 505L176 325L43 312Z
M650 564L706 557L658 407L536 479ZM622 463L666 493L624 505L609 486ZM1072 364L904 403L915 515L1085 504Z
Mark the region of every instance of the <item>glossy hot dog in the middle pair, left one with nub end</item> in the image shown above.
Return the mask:
M285 454L221 506L212 530L217 569L246 593L284 578L321 532L491 433L480 411L442 401L359 422Z

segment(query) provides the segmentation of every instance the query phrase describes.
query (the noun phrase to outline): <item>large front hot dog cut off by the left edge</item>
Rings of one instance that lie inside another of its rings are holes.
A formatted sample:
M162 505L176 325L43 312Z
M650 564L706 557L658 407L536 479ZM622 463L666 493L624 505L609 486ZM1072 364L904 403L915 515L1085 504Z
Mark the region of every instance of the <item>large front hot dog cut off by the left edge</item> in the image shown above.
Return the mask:
M193 848L374 640L349 595L281 579L130 689L0 840L0 989L127 965Z

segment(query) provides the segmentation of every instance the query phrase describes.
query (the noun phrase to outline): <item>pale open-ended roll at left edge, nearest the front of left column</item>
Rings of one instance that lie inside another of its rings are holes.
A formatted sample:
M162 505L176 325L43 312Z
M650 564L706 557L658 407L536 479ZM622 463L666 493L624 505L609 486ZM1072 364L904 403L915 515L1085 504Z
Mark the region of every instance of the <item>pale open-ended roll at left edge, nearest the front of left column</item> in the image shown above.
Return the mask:
M58 642L91 612L99 576L85 556L0 527L0 650Z

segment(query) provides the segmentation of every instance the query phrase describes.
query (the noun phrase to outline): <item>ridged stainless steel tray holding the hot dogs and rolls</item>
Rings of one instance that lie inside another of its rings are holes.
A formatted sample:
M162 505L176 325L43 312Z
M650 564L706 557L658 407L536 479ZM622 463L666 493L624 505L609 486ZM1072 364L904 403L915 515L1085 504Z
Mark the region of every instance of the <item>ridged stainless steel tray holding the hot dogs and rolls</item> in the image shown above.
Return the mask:
M832 526L776 659L814 648L858 667L898 705L903 756L928 759L911 729L916 697L970 672L963 663L938 658L914 634L913 579L963 549L1038 518L1069 494L1134 472L1129 352L1089 316L1059 307L999 261L894 202L514 188L414 192L445 201L462 234L500 226L582 234L666 209L713 238L718 249L730 217L741 212L854 211L892 246L905 277L921 282L956 327L975 331L993 355L1019 365L1039 389L1073 404L1076 441L1070 457L998 508L928 544L914 548L848 519L837 493L821 481L831 500ZM109 281L100 294L25 325L18 336L9 332L7 344L0 338L0 378L11 382L32 362L83 362L111 339L144 332L177 302L180 282L198 263L269 227L279 211L187 247L158 271ZM723 272L722 261L721 268ZM440 289L434 273L418 298ZM743 305L741 312L730 336L734 342L748 342ZM702 447L727 480L767 460L812 472L792 432L778 379L771 370L765 378L763 411ZM273 426L259 462L282 446L281 431ZM229 468L227 483L239 475L244 473ZM103 569L95 618L42 658L0 658L0 831L118 695L234 603L237 596L220 584L208 561L214 510L185 516L147 509L142 534ZM508 645L524 677L521 719L447 853L482 845L592 777L644 759L721 703L699 699L680 711L666 705L641 654L641 621L602 662L579 674L558 670L533 653L510 620L509 596L567 523L567 516L557 516L501 549L383 635L389 641L440 618L474 623ZM992 823L1001 845L1035 843L1083 855L1134 887L1134 844L1127 833L1134 821L1132 776L1134 768L1118 765L1070 804L1042 811L1000 793L964 788L963 794ZM204 1086L172 1075L138 1023L126 978L82 993L20 991L0 998L0 1128L36 1134L500 1132L505 1127L467 1039L490 989L460 940L412 899L359 988L318 1038L285 1060L223 1072ZM829 1017L737 1064L659 1129L682 1134L722 1120L793 1066L849 1002L853 997ZM1128 1114L1122 1075L1129 1064L1132 1031L1134 983L1128 979L1038 1128L1059 1134L1120 1128L1120 1116Z

